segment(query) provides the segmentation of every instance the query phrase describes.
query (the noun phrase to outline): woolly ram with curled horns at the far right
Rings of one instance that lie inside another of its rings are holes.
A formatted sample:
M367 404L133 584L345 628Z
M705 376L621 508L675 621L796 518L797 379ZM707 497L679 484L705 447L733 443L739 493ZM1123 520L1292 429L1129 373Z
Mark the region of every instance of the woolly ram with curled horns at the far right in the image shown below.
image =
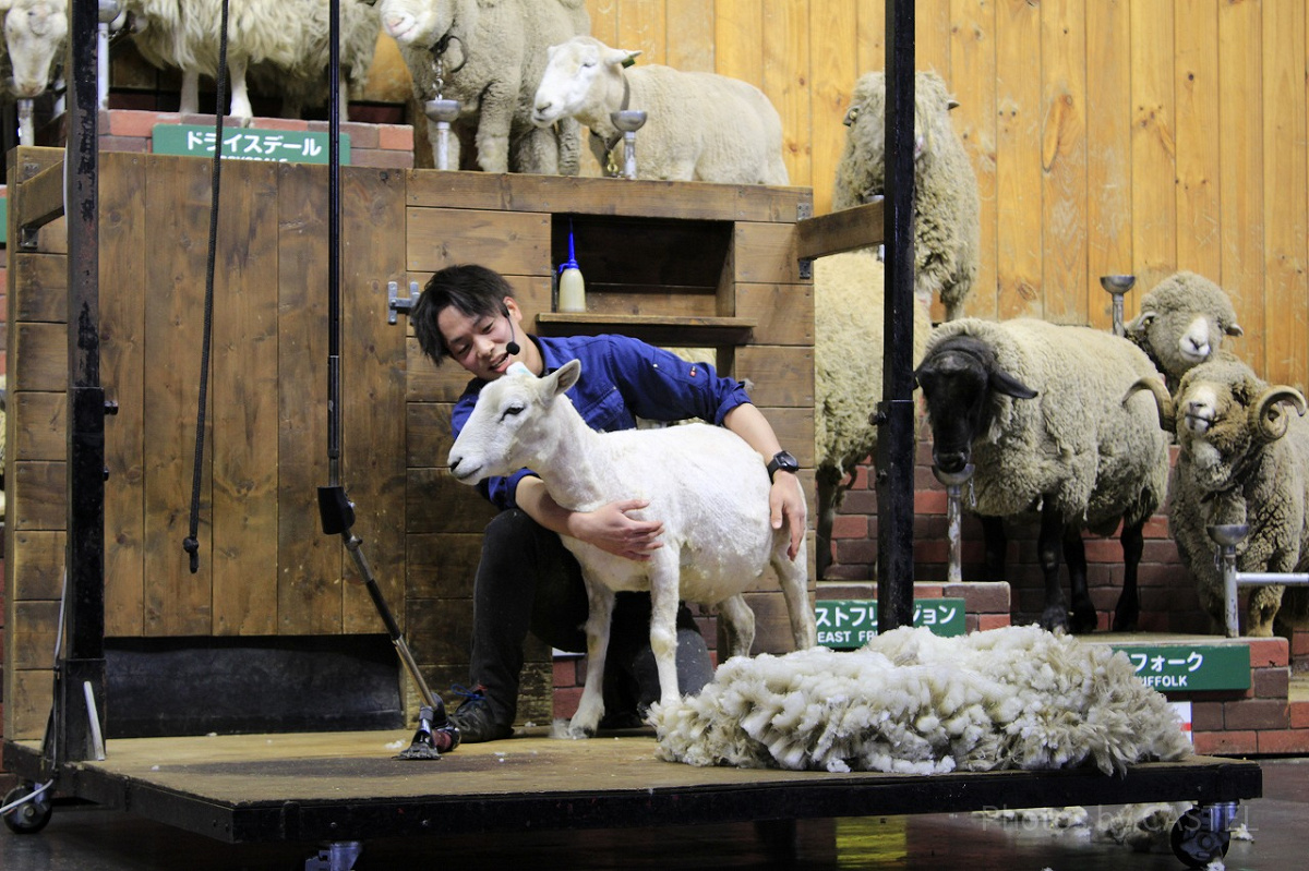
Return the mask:
M1299 390L1274 386L1234 357L1200 364L1182 377L1174 398L1141 382L1157 401L1160 424L1177 432L1169 531L1195 577L1200 606L1225 630L1223 574L1212 524L1247 523L1237 547L1240 572L1309 569L1309 421ZM1283 592L1285 591L1285 592ZM1289 607L1288 607L1289 606ZM1309 590L1270 585L1250 591L1245 634L1283 634L1309 625Z

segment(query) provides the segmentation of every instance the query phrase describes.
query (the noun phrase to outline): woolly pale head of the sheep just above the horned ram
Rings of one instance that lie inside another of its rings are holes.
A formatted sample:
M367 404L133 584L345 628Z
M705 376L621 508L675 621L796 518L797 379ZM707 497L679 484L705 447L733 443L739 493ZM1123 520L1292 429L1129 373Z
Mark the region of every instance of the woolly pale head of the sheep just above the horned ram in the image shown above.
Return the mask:
M1194 272L1174 272L1141 297L1126 335L1164 373L1170 391L1189 369L1211 360L1228 336L1242 335L1223 288Z

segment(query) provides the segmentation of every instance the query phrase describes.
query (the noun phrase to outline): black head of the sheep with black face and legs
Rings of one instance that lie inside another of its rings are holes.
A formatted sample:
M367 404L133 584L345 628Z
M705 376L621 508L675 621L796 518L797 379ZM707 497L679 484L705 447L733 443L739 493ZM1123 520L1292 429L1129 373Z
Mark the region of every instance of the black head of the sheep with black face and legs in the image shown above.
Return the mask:
M997 398L1034 399L1037 391L1000 367L995 350L973 336L949 336L928 350L914 379L932 424L932 462L946 475L963 471L973 443L991 435Z

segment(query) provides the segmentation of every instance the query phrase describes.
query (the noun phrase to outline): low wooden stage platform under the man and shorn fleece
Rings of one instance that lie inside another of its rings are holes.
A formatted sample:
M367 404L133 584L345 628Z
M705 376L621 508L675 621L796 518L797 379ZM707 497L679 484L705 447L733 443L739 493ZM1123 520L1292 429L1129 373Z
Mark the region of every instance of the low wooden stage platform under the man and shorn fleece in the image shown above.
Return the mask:
M1259 798L1253 761L1196 756L1110 777L1096 769L935 776L696 768L656 756L649 732L586 742L465 744L440 760L393 759L412 732L314 732L111 740L103 761L56 789L219 841L367 841L407 834L606 829ZM5 765L39 779L37 742ZM58 811L56 811L58 812Z

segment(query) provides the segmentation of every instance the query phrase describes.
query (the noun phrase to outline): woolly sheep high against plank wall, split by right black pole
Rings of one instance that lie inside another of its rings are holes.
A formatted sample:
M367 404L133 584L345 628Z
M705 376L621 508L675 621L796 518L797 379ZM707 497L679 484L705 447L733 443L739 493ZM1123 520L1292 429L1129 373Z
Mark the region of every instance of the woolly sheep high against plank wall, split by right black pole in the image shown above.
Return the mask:
M963 314L980 264L982 199L977 174L949 111L958 103L941 77L914 77L914 292L940 294L945 319ZM846 112L846 148L836 165L833 209L886 192L886 75L865 73Z

